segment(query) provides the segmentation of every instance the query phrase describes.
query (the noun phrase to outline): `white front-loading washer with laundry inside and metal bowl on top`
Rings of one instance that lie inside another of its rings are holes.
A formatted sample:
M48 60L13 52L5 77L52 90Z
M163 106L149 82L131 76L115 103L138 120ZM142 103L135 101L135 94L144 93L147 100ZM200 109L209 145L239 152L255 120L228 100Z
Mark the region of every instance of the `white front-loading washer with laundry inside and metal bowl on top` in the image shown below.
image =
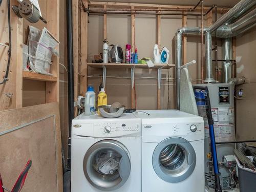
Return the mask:
M141 119L80 115L72 121L71 192L141 191Z

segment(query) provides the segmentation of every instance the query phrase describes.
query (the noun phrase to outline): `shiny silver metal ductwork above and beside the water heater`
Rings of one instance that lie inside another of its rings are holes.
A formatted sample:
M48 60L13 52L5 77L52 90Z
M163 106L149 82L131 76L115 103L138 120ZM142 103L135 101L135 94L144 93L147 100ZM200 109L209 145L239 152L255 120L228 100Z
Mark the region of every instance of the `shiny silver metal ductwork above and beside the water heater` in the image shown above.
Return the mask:
M221 38L229 38L232 36L237 36L239 34L242 34L243 32L247 31L248 29L256 26L255 21L255 12L256 9L242 17L241 19L237 20L239 17L243 16L248 10L253 8L253 6L256 5L255 0L242 0L239 2L236 6L234 6L232 9L230 9L225 15L223 15L215 24L210 26L209 28L204 28L205 33L205 44L206 44L206 50L205 50L205 59L206 59L206 79L205 82L214 82L214 78L212 75L212 59L211 59L211 47L212 47L212 38L211 38L211 32L217 29L217 35ZM237 20L237 22L230 24ZM180 101L180 67L182 65L182 35L185 34L199 34L201 33L200 27L183 27L181 29L178 29L176 33L176 105L177 109L179 109L179 101ZM230 39L227 40L229 44L227 43L226 46L232 48L232 43ZM226 50L227 51L227 50ZM230 54L230 50L227 51L227 57L225 59L232 58L232 54ZM226 72L226 74L230 74L230 72ZM229 77L226 77L229 78ZM225 80L226 81L226 80Z

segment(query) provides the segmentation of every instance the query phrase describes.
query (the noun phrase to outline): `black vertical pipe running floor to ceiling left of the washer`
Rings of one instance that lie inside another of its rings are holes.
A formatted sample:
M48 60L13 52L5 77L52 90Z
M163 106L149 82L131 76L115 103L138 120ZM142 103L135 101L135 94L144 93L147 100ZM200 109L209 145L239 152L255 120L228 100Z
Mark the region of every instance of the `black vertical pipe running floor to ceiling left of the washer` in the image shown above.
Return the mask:
M67 44L68 44L68 105L69 105L69 139L68 166L71 169L71 126L74 119L74 66L73 66L73 16L72 0L66 0L67 6Z

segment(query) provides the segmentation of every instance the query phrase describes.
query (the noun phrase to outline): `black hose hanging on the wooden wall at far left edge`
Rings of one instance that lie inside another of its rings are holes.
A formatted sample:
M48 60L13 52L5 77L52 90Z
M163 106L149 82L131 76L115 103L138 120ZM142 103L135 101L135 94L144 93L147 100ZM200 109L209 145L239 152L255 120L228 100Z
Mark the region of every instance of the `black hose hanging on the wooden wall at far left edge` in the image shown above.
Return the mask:
M3 0L0 0L0 6ZM4 84L6 81L8 81L8 74L9 74L9 68L10 68L10 62L11 62L11 55L12 55L12 34L11 34L11 10L10 10L10 0L7 0L8 5L8 31L9 31L9 50L8 50L8 62L5 72L5 77L0 84Z

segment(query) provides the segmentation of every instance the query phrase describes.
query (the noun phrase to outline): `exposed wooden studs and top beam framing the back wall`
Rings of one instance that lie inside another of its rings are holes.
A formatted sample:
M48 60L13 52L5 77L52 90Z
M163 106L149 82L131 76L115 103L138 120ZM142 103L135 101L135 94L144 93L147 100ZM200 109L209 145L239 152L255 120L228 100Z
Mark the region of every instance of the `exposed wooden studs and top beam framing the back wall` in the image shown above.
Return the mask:
M104 10L107 9L114 9L114 8L122 8L122 9L127 9L127 10L136 10L139 8L155 8L158 9L159 11L164 10L164 9L192 9L194 8L193 6L179 6L179 5L156 5L156 4L138 4L138 3L117 3L117 2L94 2L90 1L88 2L87 0L81 0L85 8L101 8ZM204 11L208 11L210 7L204 7ZM224 9L224 8L218 8L218 13L225 13L229 9ZM82 11L82 10L81 10ZM158 11L158 12L159 12ZM196 8L195 12L201 12L201 8L198 7ZM212 12L210 13L212 14ZM87 55L88 55L88 14L83 12L81 13L82 19L81 19L81 32L83 34L81 41L82 41L82 49L81 49L81 84L80 84L80 90L81 90L81 95L84 95L86 93L86 88L87 88L87 69L88 69L88 61L87 61ZM103 14L103 37L107 38L107 29L106 29L106 18L107 15ZM158 44L159 47L161 47L161 15L156 16L157 19L157 34L156 34L156 44ZM212 19L212 17L211 17ZM182 17L182 26L186 26L186 20L187 17L183 16ZM184 56L183 56L183 61L186 62L186 36L183 37L183 51L184 51ZM132 46L132 51L135 51L135 14L131 14L131 46ZM158 89L157 91L157 109L160 109L160 103L161 103L161 89ZM135 108L136 103L135 103L135 88L131 89L131 107Z

